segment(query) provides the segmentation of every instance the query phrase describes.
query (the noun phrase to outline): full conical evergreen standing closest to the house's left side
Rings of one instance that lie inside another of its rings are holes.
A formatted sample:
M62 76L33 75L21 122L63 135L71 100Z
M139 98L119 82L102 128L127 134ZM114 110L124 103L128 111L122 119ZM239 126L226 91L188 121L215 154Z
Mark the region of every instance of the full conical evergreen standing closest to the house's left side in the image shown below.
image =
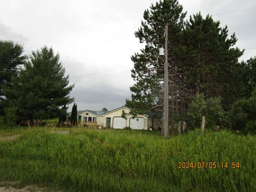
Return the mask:
M59 54L52 48L33 51L20 75L12 79L12 89L4 90L10 106L17 107L18 121L50 119L61 116L63 105L74 85L69 85Z

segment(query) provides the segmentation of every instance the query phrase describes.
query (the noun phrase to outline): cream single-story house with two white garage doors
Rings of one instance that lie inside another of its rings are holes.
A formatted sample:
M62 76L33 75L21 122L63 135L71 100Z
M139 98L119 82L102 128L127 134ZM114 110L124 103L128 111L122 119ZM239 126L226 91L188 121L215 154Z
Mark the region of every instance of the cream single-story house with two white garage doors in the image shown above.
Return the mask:
M135 118L132 118L131 115L126 115L125 119L122 117L123 111L129 114L131 109L122 106L111 111L77 111L77 120L85 124L86 122L95 122L95 124L107 128L124 129L125 127L130 127L134 130L158 130L162 123L161 118L156 117L150 112L144 115L138 115ZM69 115L71 115L71 113Z

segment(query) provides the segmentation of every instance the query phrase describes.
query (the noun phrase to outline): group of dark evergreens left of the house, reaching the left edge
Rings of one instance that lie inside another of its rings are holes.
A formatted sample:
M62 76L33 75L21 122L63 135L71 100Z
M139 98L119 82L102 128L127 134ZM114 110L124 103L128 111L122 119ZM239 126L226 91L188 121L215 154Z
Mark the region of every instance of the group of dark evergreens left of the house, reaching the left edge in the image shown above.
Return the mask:
M52 47L23 54L23 45L0 40L0 121L33 124L34 119L66 119L74 85Z

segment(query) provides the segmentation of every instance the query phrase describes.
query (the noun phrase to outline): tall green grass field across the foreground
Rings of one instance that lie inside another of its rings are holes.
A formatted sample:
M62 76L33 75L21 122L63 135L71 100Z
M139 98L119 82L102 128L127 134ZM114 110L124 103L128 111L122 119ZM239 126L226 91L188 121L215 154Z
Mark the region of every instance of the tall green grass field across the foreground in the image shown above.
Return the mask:
M147 131L72 128L61 135L51 130L65 129L0 130L0 137L21 135L0 141L0 180L64 191L256 189L252 135L198 130L164 139ZM216 162L216 168L179 169L179 162ZM222 169L221 162L239 162L239 169Z

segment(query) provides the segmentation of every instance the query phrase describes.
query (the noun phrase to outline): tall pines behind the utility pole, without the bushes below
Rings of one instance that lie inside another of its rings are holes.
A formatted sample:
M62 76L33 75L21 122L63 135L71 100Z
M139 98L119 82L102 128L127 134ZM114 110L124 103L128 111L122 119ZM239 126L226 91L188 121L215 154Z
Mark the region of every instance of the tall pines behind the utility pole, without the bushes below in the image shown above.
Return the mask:
M169 87L169 103L174 102L169 108L175 108L171 118L186 120L186 111L195 94L202 93L206 101L220 96L225 109L244 94L244 84L236 77L244 69L238 62L243 51L234 47L235 34L228 38L227 26L221 28L220 22L213 21L210 15L203 18L198 13L187 22L183 21L185 15L174 0L160 1L144 12L145 21L135 36L146 45L131 58L135 84L130 87L132 99L126 100L133 115L147 110L163 114L164 58L158 57L158 49L164 45L166 23L169 24L169 86L173 87L173 91Z

